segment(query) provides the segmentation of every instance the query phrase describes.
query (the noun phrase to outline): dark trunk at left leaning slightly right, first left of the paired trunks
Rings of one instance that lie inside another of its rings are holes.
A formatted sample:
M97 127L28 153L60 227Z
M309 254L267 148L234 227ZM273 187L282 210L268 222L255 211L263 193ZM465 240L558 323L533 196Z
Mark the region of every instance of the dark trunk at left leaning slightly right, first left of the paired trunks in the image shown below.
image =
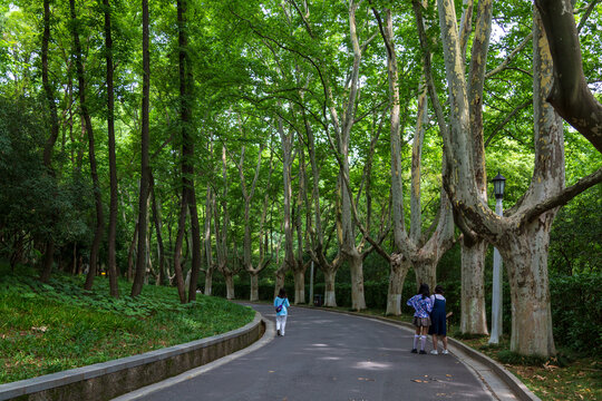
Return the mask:
M149 110L148 102L151 96L151 55L148 50L148 0L142 1L142 19L143 19L143 104L142 104L142 135L140 135L140 194L138 200L138 257L136 258L136 271L134 275L134 284L132 284L132 296L138 296L142 293L144 285L144 276L146 273L146 232L148 214L148 184L151 178L151 167L148 158L148 124Z

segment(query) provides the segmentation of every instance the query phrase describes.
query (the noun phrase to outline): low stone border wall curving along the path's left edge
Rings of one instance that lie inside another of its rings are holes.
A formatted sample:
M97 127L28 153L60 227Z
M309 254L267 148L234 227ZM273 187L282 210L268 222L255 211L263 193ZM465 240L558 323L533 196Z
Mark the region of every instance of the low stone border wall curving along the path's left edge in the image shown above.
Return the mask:
M245 326L185 344L0 385L0 400L110 400L249 346L265 326Z

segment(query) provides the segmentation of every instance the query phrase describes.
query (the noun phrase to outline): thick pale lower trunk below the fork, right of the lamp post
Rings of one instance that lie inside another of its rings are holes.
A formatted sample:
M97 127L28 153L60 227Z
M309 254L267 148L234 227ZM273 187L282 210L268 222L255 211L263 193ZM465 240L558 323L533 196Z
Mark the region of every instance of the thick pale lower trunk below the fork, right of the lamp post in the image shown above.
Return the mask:
M547 277L550 227L555 212L542 215L501 253L507 266L512 297L511 350L526 355L556 353ZM509 236L508 236L509 237Z

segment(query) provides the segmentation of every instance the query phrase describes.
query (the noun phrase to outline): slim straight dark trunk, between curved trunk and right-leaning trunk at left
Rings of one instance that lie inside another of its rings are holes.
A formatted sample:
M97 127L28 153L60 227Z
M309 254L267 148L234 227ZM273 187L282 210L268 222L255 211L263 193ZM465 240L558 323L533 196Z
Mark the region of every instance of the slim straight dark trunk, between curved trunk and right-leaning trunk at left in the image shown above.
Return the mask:
M103 0L105 8L105 50L107 62L107 134L109 151L109 175L110 175L110 203L108 224L108 275L110 295L119 297L119 285L117 283L117 262L115 257L115 238L117 231L117 159L115 155L115 94L113 90L113 37L110 26L109 0Z

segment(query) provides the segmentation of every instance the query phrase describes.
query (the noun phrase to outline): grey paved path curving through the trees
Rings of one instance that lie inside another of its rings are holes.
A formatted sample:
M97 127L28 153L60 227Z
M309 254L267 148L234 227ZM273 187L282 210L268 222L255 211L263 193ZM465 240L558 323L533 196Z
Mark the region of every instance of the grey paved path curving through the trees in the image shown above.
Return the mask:
M274 320L273 307L252 305ZM453 355L410 353L412 333L394 324L292 307L287 335L242 356L120 397L118 400L492 400ZM427 349L430 350L430 341Z

